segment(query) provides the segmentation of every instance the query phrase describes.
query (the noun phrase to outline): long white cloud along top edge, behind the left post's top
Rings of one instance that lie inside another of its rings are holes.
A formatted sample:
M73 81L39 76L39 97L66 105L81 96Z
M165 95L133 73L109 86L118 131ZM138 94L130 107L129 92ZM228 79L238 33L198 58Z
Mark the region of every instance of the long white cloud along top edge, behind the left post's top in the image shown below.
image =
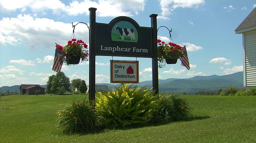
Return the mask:
M139 11L143 11L145 7L145 0L73 0L65 5L60 0L27 0L26 2L9 0L1 2L2 11L15 11L21 9L25 11L26 8L30 8L32 12L46 13L46 10L52 10L54 14L61 14L66 12L68 15L76 16L85 13L89 15L90 7L97 8L97 16L133 16Z

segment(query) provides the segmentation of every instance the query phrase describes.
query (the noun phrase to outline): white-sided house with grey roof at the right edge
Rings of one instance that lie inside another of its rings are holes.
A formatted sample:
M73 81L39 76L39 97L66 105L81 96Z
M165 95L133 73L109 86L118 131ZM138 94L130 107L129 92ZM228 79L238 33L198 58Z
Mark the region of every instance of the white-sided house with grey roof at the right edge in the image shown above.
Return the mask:
M246 90L256 88L256 7L235 29L242 34L244 60L244 86Z

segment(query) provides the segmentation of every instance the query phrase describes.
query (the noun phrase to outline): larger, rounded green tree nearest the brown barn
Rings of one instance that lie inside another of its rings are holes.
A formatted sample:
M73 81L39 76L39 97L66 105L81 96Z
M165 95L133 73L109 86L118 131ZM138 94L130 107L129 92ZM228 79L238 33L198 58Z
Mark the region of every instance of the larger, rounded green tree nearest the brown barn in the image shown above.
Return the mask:
M69 87L70 87L69 78L62 71L60 71L54 76L52 80L51 91L60 92L60 88L62 89L64 88L65 91L69 91Z

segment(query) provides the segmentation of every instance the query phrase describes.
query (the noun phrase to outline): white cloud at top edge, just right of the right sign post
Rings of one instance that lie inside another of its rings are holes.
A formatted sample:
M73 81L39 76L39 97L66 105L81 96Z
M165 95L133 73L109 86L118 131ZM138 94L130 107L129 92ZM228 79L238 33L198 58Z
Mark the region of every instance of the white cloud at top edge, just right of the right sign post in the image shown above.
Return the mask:
M169 19L172 12L178 8L198 8L200 4L204 4L204 0L160 0L162 13L158 18Z

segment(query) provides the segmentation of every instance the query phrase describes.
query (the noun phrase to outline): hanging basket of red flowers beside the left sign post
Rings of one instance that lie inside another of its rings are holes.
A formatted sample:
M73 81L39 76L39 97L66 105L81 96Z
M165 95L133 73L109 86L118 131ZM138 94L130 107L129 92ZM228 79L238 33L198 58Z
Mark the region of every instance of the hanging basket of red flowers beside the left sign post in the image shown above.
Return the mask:
M56 45L56 47L59 51L62 51L59 60L66 63L66 65L79 64L80 59L81 63L83 61L88 61L88 45L82 40L76 41L76 39L72 39L68 41L68 44L64 47L60 45Z

